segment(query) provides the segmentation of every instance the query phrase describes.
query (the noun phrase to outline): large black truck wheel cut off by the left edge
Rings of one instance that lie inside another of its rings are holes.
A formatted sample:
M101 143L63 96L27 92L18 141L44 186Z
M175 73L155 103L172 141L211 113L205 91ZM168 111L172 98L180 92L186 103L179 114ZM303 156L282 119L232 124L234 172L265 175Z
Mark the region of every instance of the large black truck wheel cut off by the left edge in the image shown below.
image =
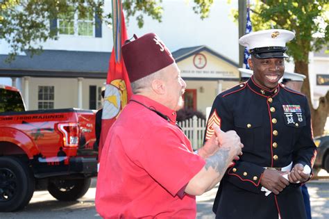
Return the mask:
M30 202L35 180L26 164L12 156L0 156L0 211L17 211Z

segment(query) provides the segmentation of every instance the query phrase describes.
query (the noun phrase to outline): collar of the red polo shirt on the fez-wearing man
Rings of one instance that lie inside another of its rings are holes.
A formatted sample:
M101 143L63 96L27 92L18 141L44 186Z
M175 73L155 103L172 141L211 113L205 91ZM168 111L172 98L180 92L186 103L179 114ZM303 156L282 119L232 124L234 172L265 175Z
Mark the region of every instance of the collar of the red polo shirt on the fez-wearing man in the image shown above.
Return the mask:
M153 99L149 99L149 97L145 97L143 95L133 95L131 97L135 102L140 102L146 107L152 108L155 111L162 113L169 117L170 123L176 124L176 111L173 111L171 108L168 108L165 105L160 104L159 102L154 101Z

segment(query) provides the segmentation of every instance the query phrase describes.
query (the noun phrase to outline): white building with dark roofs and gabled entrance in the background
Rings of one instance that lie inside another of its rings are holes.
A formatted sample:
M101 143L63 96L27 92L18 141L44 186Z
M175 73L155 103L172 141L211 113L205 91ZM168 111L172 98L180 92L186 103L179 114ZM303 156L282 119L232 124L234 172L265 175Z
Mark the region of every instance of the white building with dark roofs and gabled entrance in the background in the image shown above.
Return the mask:
M230 10L237 8L237 1L214 1L210 16L204 20L194 13L193 4L183 0L164 1L161 23L144 16L142 29L138 29L135 18L130 18L126 27L129 36L149 32L160 36L187 82L185 103L205 113L218 92L239 81L238 26L230 15ZM104 9L110 11L110 7L111 1L105 1ZM0 83L4 79L1 77L10 77L12 85L22 91L30 110L99 108L112 51L112 29L104 23L101 26L87 24L89 18L95 19L94 16L85 19L84 29L79 29L77 19L75 29L62 28L60 19L53 21L52 25L60 28L58 40L44 43L40 56L29 58L22 54L10 64L3 63L8 44L0 40ZM292 67L289 69L293 71ZM328 55L310 57L315 102L323 90L328 90L328 71ZM321 85L316 84L319 75L326 81Z

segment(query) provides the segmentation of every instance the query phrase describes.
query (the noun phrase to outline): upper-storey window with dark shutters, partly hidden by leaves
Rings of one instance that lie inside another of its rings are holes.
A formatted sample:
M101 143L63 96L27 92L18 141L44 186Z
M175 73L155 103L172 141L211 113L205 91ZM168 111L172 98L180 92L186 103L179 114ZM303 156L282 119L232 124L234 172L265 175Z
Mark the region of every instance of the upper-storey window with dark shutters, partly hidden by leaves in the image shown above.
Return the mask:
M92 10L88 10L84 15L74 13L72 8L69 13L58 15L58 33L94 36L94 13Z

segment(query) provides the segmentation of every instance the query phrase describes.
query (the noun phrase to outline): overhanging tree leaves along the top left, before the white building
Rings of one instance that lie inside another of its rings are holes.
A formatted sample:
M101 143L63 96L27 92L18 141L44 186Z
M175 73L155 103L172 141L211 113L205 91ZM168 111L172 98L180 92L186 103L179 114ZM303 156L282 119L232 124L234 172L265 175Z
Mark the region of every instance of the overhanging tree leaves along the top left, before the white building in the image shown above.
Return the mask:
M201 19L208 17L212 1L194 0L194 12ZM135 17L141 28L145 15L161 22L161 3L162 0L123 0L122 7L127 22L130 17ZM33 56L42 51L42 42L56 40L58 30L51 29L50 22L59 15L76 12L86 15L90 10L111 26L112 12L104 10L103 0L0 0L0 39L6 40L10 46L7 60L14 60L25 50Z

